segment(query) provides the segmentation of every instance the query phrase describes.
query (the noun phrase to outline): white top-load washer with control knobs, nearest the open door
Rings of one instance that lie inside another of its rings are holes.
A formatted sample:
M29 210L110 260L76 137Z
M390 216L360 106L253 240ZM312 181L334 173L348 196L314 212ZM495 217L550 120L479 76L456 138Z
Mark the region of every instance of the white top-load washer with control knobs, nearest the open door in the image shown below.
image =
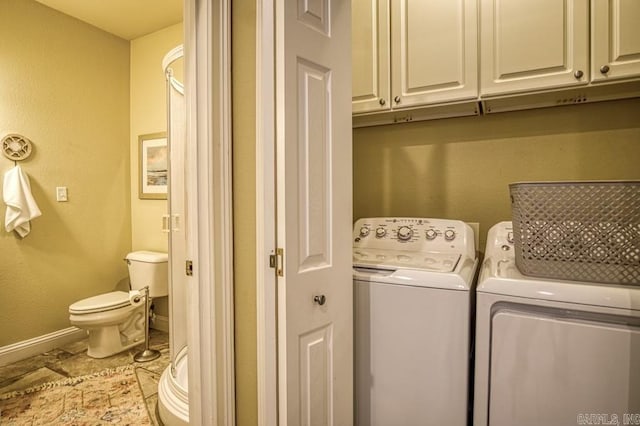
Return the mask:
M455 220L360 219L353 264L356 424L465 426L472 229Z

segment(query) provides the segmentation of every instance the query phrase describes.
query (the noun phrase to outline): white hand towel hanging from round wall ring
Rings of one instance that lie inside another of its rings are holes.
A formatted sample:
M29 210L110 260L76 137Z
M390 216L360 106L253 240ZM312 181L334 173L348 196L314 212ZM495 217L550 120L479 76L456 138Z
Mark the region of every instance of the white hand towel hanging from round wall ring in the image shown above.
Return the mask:
M20 166L4 174L3 198L7 205L4 226L7 232L16 231L20 237L26 237L31 232L29 221L42 214L31 195L29 177Z

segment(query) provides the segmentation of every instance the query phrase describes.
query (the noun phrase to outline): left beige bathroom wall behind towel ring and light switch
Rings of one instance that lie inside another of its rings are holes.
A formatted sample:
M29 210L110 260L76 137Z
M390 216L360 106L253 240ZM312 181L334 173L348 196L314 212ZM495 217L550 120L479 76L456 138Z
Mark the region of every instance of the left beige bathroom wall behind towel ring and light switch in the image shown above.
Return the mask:
M131 248L129 43L30 0L0 0L0 135L42 216L0 231L0 346L69 327L68 307L126 278ZM13 164L0 157L0 172ZM55 200L67 186L69 201ZM0 209L4 222L4 203Z

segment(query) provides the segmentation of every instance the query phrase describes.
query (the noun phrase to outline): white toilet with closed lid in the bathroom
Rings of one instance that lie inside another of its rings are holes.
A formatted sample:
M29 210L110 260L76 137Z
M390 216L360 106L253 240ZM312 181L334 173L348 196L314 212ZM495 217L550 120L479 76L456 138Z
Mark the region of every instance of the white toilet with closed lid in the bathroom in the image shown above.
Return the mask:
M168 255L134 251L125 258L132 290L149 286L149 296L168 294ZM87 355L105 358L144 342L144 303L131 304L129 293L112 291L69 306L69 321L89 332Z

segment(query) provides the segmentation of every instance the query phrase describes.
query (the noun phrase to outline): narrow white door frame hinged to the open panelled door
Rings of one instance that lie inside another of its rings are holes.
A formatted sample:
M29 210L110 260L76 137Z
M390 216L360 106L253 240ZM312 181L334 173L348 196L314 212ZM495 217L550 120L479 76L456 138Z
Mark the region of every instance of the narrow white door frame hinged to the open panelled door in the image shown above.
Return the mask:
M256 306L258 425L278 424L276 247L275 1L256 5Z

